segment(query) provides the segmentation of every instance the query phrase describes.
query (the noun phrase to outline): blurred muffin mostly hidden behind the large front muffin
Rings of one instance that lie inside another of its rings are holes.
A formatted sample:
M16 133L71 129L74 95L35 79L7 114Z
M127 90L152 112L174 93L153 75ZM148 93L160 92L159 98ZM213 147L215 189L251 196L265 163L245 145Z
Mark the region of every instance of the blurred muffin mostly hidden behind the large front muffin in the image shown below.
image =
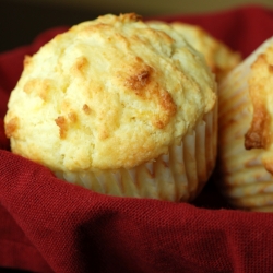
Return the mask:
M165 24L159 21L151 21L149 24L154 28L164 29L166 33L169 33L168 28L173 28L175 33L182 35L194 49L203 54L206 63L213 73L215 73L217 81L223 79L241 61L239 52L232 50L200 26L181 22Z

